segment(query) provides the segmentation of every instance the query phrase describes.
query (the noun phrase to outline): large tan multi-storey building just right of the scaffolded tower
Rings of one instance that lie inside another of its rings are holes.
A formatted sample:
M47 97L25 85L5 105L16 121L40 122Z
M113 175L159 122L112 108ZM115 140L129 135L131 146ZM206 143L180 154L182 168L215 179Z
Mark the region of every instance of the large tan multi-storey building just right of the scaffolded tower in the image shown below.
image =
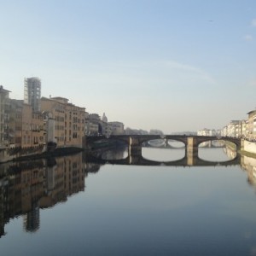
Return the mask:
M51 113L55 119L54 137L57 147L82 147L85 108L75 106L63 97L42 97L41 109Z

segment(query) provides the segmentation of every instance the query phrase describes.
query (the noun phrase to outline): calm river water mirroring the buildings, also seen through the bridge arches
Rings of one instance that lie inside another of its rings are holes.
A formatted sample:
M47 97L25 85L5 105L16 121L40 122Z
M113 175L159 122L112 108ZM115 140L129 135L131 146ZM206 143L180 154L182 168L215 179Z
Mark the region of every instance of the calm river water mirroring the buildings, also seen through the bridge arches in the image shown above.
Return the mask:
M149 160L183 156L143 148ZM0 255L256 255L255 169L247 157L239 166L100 166L82 154L2 166Z

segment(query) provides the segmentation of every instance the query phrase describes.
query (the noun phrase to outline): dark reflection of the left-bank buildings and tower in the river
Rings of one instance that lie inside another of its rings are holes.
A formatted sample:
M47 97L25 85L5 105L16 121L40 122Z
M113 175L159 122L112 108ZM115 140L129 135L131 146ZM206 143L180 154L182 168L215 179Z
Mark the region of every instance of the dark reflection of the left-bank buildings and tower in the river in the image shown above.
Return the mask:
M9 219L23 216L23 229L40 227L40 208L84 191L82 154L0 166L0 237Z

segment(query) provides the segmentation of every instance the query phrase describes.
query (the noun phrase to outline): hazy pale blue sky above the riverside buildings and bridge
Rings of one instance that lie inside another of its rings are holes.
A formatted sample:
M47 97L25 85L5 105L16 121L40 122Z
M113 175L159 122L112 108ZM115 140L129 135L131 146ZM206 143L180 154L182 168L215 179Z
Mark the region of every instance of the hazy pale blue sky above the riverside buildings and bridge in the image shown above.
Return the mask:
M0 0L0 84L125 128L221 129L256 108L255 0Z

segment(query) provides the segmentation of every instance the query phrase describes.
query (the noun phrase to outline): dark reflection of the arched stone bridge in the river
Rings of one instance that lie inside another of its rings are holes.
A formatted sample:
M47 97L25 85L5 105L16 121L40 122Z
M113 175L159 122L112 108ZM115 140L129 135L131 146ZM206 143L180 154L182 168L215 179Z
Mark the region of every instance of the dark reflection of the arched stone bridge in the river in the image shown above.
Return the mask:
M239 154L233 160L227 161L207 161L202 160L198 156L192 160L185 155L180 160L172 161L155 161L143 158L142 155L131 156L128 155L125 159L106 160L102 158L101 154L86 154L86 160L92 163L105 165L133 165L133 166L238 166L241 164L241 157Z

